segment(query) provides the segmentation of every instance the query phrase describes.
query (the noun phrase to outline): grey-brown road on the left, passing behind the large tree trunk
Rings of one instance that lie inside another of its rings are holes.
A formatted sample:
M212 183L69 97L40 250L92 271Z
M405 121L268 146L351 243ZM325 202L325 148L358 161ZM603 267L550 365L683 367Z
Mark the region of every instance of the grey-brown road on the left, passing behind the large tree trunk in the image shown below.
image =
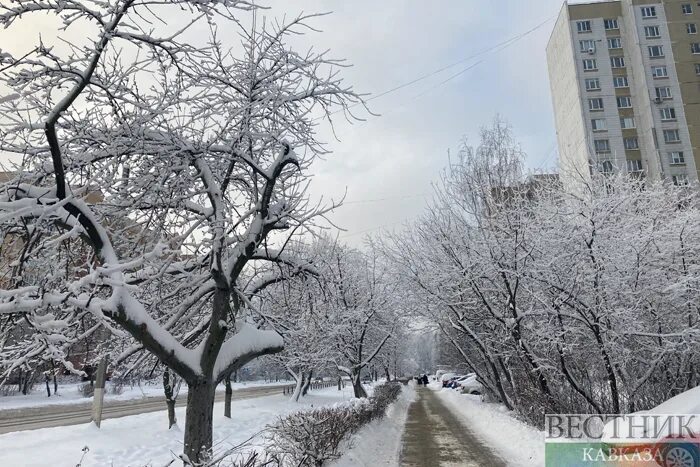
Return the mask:
M282 387L253 387L233 391L233 400L281 394ZM184 405L187 395L178 398L178 406ZM216 400L224 400L224 392L216 393ZM106 401L102 419L119 418L140 413L165 410L165 398L147 397L137 400ZM77 425L92 420L91 403L53 405L0 411L0 434L11 431L36 430L55 426Z

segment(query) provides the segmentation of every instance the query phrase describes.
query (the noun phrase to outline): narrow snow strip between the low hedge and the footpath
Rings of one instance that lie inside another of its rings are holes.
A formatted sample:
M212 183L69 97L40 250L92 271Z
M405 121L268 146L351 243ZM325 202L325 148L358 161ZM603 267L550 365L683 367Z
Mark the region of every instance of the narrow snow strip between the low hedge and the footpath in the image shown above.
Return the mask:
M408 407L415 398L411 382L389 406L385 417L369 423L352 437L350 449L332 467L398 466Z

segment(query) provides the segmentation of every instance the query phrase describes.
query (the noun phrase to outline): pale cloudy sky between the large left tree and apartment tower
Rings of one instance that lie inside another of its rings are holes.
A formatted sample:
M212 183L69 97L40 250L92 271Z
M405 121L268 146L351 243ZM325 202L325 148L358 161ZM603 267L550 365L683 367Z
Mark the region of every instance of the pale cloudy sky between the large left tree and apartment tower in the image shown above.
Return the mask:
M476 142L479 128L497 114L513 126L528 167L556 167L545 47L562 0L260 3L270 6L265 15L272 17L331 12L312 22L322 31L298 39L300 45L347 59L353 66L344 70L346 81L370 98L461 61L373 99L370 108L380 116L354 124L339 118L339 141L323 133L332 154L314 166L312 192L338 199L347 191L345 205L332 219L347 230L340 237L348 243L358 245L365 233L399 228L418 215L447 163L448 149L454 151L463 137ZM45 16L33 21L31 30L0 31L2 48L18 51L35 44L40 31L47 36ZM465 60L545 21L507 48Z

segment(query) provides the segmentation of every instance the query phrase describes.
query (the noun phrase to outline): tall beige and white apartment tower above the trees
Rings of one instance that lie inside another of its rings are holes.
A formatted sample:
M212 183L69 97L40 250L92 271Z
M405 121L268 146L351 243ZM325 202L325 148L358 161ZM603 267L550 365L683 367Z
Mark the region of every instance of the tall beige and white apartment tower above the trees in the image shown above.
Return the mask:
M700 2L565 3L547 45L562 182L700 172Z

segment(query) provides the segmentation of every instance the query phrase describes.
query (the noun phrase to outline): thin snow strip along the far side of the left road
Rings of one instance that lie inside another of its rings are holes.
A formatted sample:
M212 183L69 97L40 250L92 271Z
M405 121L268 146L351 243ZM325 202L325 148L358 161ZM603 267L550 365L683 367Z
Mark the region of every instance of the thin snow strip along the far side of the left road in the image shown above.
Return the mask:
M46 390L43 386L37 385L31 394L23 395L21 393L11 396L0 396L0 411L7 409L21 409L29 407L44 407L47 405L63 405L63 404L80 404L90 403L91 397L83 397L80 393L80 386L85 383L70 383L62 384L58 387L57 394L51 394L51 397L46 396ZM234 390L242 388L251 388L258 386L274 386L293 384L292 381L280 381L278 383L269 383L265 381L246 381L243 383L231 383ZM124 386L121 394L114 394L112 391L112 383L107 382L105 400L132 400L141 399L144 397L155 397L163 395L163 385L159 381L143 383L140 385ZM224 386L219 385L218 391L223 391ZM51 387L53 392L53 386ZM187 394L187 385L183 384L180 390L180 395Z

